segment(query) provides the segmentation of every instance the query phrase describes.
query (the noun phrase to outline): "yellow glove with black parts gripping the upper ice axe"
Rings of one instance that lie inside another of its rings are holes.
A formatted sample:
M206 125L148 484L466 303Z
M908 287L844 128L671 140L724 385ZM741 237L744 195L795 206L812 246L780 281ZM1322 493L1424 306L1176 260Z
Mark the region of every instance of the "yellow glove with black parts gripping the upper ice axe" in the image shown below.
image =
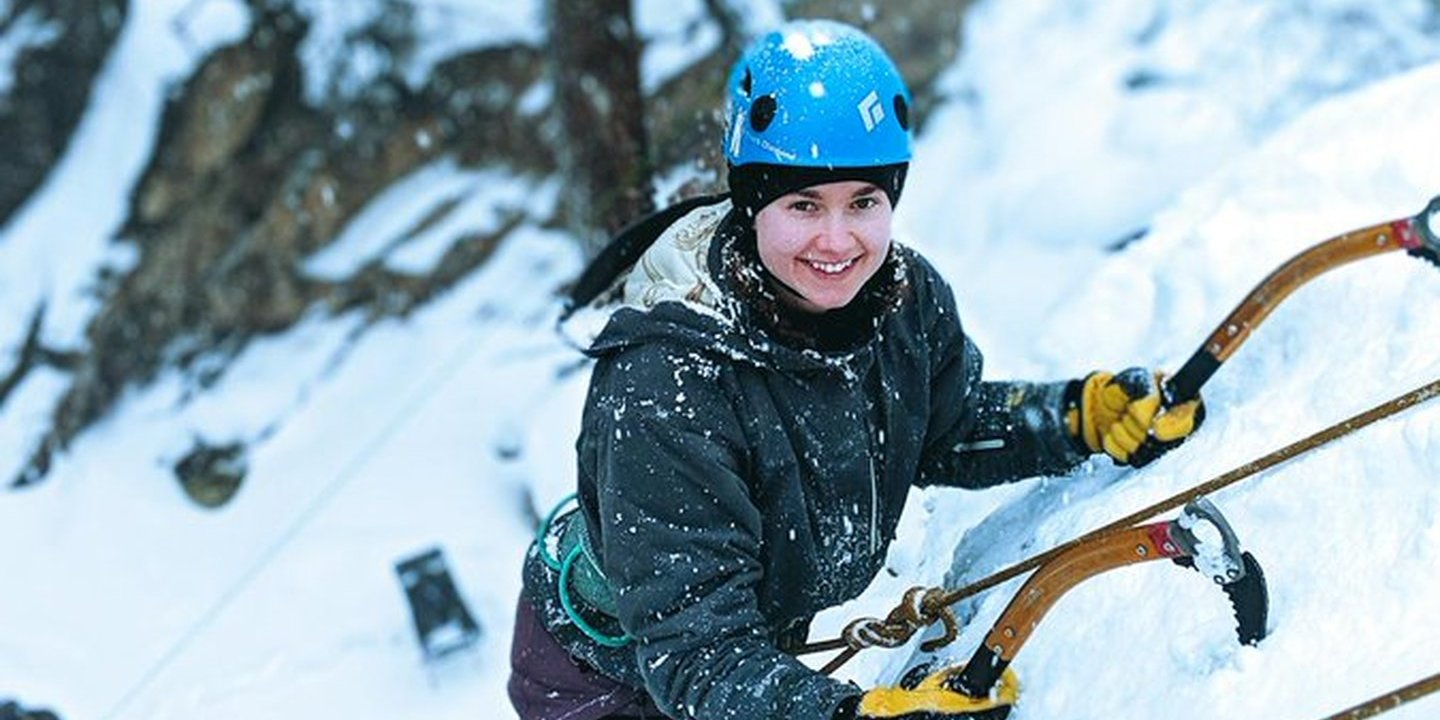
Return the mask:
M1179 446L1204 422L1205 403L1162 408L1162 380L1143 367L1087 374L1066 412L1070 433L1090 452L1135 468Z

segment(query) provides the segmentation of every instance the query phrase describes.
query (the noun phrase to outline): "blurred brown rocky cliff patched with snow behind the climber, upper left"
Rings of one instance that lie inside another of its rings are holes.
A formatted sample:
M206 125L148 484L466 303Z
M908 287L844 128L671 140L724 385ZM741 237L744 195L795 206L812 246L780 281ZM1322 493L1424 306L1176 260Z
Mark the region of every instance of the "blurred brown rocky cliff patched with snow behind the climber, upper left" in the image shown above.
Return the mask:
M13 167L0 168L0 213L17 207L59 157L125 19L121 0L65 0L20 1L0 22L35 17L42 4L45 17L65 19L55 24L65 42L26 50L24 69L7 104L0 104L0 143L30 148L0 154L0 163ZM387 6L403 10L405 3ZM701 168L720 179L711 150L720 132L720 85L743 39L736 37L724 3L707 6L708 22L726 27L726 42L645 98L644 117L655 167L700 158ZM583 222L517 215L492 233L458 239L423 276L383 266L334 281L305 276L301 262L330 243L369 200L436 158L537 177L560 171L567 137L560 120L550 109L539 115L517 109L518 98L554 81L544 72L554 53L530 45L484 48L441 62L419 86L389 69L359 91L315 102L302 86L298 52L310 19L287 0L249 0L249 7L248 35L212 52L171 91L156 150L114 238L132 243L138 262L124 274L96 278L104 305L86 328L85 346L46 347L43 307L23 318L32 333L13 350L14 364L0 366L0 403L39 366L62 369L72 380L14 485L43 480L55 454L102 418L127 387L148 383L163 367L187 370L203 390L249 338L284 331L312 308L405 314L484 264L521 222ZM962 4L927 0L873 17L868 3L792 1L786 12L867 26L896 49L923 121L933 104L932 81L956 52ZM367 29L372 45L399 68L413 49L413 29L403 12L380 17L383 26ZM684 192L713 186L714 180ZM445 212L445 206L436 210ZM243 467L233 462L235 452L220 449L197 446L186 458L192 462L177 464L177 474L206 475L209 465L194 458Z

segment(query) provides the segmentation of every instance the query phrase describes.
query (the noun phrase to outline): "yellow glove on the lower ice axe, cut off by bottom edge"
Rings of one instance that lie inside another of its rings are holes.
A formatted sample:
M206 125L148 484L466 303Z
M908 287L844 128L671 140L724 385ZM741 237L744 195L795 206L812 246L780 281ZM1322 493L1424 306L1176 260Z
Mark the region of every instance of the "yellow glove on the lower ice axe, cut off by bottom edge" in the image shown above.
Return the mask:
M897 687L877 687L841 706L835 720L981 720L1004 717L1020 698L1020 681L1008 668L989 697L975 698L955 687L963 667L942 668L920 683L901 681Z

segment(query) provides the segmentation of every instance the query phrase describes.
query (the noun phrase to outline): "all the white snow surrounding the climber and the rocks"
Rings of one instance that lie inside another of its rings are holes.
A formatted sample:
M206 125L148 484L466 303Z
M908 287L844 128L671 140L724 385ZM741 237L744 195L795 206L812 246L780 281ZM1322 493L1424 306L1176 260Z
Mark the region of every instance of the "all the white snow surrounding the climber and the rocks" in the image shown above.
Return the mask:
M537 0L478 3L465 22L458 3L422 4L439 20L418 73L446 52L540 36ZM343 3L312 6L346 22ZM714 42L700 1L638 12L657 39L648 86L693 56L684 43ZM246 22L239 0L134 3L66 156L0 229L0 367L40 300L50 344L84 338L96 272L132 262L111 238L166 84ZM963 40L897 235L955 285L989 377L1175 370L1280 262L1440 193L1440 22L1424 0L989 0ZM0 59L24 42L45 37L0 37ZM442 161L376 199L308 271L423 268L445 232L554 193ZM448 229L415 246L387 236L386 217L462 196ZM526 229L406 321L359 333L359 317L317 314L252 344L212 389L170 373L130 393L46 482L0 494L0 697L68 720L513 717L520 557L533 513L572 484L586 376L569 372L577 356L552 321L579 262L570 238ZM812 636L1440 377L1437 307L1440 269L1400 253L1308 284L1205 386L1208 419L1184 448L1143 471L1093 462L914 492L893 573ZM0 477L63 387L36 372L4 406ZM252 444L223 510L194 507L171 475L196 436ZM1270 636L1237 647L1224 596L1195 573L1109 573L1067 595L1020 654L1012 717L1318 719L1440 671L1437 477L1430 402L1218 492L1269 576ZM436 544L485 635L426 667L393 563ZM1018 582L966 602L973 622L942 654L968 657ZM873 649L842 677L893 681L914 661ZM1440 717L1440 697L1387 717Z

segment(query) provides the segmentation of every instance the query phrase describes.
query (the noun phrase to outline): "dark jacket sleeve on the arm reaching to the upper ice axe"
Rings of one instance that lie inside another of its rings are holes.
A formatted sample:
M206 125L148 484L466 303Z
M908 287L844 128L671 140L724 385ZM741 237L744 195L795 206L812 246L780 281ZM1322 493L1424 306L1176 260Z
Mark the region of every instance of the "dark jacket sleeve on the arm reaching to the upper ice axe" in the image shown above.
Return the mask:
M927 289L917 300L930 304L932 418L917 484L984 488L1084 461L1064 423L1074 380L981 380L981 351L960 330L949 287L935 278Z

